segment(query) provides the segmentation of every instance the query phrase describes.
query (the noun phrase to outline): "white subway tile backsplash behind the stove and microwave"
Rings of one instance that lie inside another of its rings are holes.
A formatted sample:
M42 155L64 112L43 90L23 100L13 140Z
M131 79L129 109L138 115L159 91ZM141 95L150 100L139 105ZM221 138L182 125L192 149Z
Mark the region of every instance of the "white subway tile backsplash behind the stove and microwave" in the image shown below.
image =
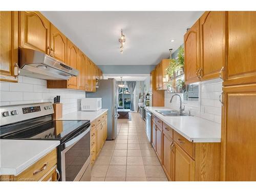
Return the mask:
M52 101L60 95L63 115L80 110L80 99L86 92L66 89L47 89L47 81L25 76L18 77L18 83L0 82L0 105L27 104Z

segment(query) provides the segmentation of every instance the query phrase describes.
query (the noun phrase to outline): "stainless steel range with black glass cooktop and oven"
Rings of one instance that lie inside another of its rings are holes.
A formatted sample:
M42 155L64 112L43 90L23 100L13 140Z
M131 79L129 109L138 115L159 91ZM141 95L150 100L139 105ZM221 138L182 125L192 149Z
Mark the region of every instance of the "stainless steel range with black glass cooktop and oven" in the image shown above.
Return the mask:
M59 140L61 181L90 181L90 120L53 120L51 102L1 106L1 139Z

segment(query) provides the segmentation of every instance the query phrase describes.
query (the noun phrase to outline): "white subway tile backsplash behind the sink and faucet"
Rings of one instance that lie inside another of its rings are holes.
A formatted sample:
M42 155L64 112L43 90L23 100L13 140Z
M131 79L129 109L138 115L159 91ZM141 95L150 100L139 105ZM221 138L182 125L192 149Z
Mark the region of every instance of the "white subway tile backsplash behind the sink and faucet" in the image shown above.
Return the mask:
M219 95L222 92L222 81L220 79L209 80L199 83L199 101L182 101L185 105L185 113L191 111L191 115L198 116L210 121L221 123L221 102ZM180 109L180 99L175 96L170 103L174 93L165 91L164 105L175 110ZM183 96L183 94L180 94Z

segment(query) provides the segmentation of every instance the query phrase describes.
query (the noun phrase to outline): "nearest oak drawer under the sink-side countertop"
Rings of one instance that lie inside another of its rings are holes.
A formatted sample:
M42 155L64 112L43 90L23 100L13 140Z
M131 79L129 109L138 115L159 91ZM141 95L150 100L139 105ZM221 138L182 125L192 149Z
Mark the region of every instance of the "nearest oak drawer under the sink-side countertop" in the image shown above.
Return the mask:
M174 131L174 141L194 159L194 143Z

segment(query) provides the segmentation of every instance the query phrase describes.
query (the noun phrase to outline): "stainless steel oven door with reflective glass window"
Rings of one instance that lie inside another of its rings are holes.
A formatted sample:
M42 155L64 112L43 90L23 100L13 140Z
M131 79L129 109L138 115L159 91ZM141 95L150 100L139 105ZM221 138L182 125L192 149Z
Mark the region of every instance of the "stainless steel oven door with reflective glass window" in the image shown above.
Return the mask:
M90 127L76 133L62 146L65 148L61 151L61 180L90 181Z

